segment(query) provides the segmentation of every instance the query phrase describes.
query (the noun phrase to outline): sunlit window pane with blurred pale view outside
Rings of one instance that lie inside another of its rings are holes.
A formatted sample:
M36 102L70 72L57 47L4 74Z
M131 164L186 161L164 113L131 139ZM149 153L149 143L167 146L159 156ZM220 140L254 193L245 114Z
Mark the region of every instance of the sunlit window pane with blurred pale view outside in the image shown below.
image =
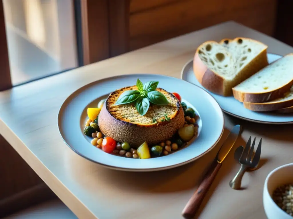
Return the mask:
M3 0L12 84L77 67L73 0Z

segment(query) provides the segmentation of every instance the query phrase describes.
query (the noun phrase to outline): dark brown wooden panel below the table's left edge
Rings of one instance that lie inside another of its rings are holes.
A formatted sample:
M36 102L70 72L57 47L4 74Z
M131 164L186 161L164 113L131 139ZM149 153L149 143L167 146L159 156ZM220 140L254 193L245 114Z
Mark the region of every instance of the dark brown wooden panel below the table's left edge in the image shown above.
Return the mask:
M56 197L0 135L0 218Z

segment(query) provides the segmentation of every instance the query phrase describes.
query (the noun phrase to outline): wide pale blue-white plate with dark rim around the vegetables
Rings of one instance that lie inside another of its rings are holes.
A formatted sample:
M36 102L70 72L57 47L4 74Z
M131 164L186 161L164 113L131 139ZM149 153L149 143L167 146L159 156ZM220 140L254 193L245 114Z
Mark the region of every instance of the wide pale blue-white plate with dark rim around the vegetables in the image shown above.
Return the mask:
M188 106L196 109L200 116L200 133L191 145L167 156L151 159L119 157L91 145L91 138L83 133L86 108L96 107L100 99L118 88L135 85L137 78L143 83L159 81L159 87L179 93ZM156 171L187 164L211 150L224 131L224 116L217 101L198 86L163 75L134 74L95 81L75 91L59 110L58 127L66 144L88 160L125 171Z

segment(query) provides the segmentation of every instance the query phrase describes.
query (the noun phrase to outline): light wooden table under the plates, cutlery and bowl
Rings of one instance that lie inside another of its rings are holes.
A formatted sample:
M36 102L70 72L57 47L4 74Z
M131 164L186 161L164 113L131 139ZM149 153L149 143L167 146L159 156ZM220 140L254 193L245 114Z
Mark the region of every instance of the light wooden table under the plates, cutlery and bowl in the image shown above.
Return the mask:
M285 55L293 48L235 22L226 22L170 39L115 58L31 82L0 93L0 133L79 218L181 218L208 164L226 138L197 161L151 173L114 171L74 153L57 128L58 110L76 89L119 74L149 73L180 77L183 65L206 40L251 37L269 46L268 52ZM225 116L226 127L242 124L236 145L249 136L263 138L262 166L245 173L246 190L229 187L239 169L234 150L223 163L205 197L200 218L266 218L262 192L267 174L293 162L292 125L262 125Z

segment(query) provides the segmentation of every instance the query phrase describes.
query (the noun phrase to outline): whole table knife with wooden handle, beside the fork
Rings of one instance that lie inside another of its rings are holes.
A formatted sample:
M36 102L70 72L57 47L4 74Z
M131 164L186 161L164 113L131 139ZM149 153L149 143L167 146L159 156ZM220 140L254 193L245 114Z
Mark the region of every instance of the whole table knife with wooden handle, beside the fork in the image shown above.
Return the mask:
M212 185L214 178L216 177L219 169L222 166L222 162L229 154L230 150L232 149L234 143L236 142L239 133L241 130L240 125L236 125L232 128L231 132L229 133L228 137L224 141L223 145L221 146L217 156L209 167L209 170L205 174L202 182L198 186L197 190L193 194L193 196L189 199L188 203L186 204L185 208L182 211L182 216L186 219L194 218L198 208L202 200L205 197L205 194L209 190L209 187Z

